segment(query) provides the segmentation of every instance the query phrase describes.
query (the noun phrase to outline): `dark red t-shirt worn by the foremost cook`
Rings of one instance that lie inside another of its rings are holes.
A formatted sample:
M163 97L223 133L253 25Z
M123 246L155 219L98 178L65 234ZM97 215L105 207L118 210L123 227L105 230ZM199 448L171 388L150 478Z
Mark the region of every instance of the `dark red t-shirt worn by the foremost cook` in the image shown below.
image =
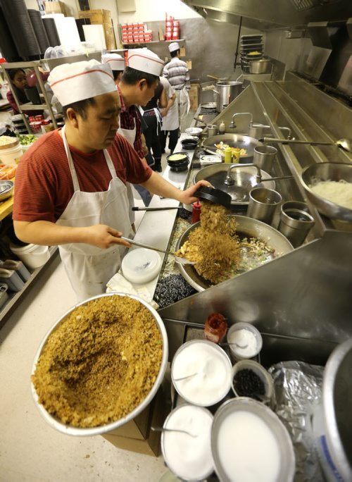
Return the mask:
M80 190L108 190L111 173L103 151L90 154L70 146ZM151 168L139 159L130 143L117 134L108 152L122 183L144 183ZM58 130L48 132L21 157L15 178L13 219L55 223L73 196L73 181L63 140Z

